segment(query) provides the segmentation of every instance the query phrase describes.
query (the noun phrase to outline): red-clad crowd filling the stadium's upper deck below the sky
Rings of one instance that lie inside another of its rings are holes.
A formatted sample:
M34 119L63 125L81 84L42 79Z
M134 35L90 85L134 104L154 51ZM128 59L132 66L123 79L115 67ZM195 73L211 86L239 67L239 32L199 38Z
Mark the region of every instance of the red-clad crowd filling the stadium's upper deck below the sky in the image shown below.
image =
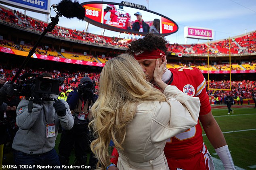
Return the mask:
M0 7L0 19L6 22L15 23L16 25L30 28L37 31L44 31L48 23L40 20L36 20L30 16L22 14L18 10L5 9ZM83 40L94 44L113 45L114 47L128 47L130 41L136 39L129 39L124 41L118 37L106 37L87 33L86 31L79 31L76 29L68 29L60 26L56 26L49 34L67 37L72 39ZM191 45L179 45L177 43L169 44L168 51L174 53L183 54L209 54L211 55L223 55L229 54L229 46L231 47L232 54L243 54L243 53L255 53L256 52L256 31L243 35L241 37L220 40L218 42L210 42L209 44L191 44ZM229 45L230 44L230 45Z

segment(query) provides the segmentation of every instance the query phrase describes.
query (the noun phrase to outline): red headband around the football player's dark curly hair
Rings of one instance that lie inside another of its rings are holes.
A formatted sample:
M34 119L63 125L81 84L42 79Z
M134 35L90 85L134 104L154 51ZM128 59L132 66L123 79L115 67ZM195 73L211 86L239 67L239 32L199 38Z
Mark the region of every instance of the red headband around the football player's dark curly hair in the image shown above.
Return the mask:
M136 60L139 59L157 59L165 55L164 51L161 49L156 49L153 51L139 51L138 53L134 54L134 58Z

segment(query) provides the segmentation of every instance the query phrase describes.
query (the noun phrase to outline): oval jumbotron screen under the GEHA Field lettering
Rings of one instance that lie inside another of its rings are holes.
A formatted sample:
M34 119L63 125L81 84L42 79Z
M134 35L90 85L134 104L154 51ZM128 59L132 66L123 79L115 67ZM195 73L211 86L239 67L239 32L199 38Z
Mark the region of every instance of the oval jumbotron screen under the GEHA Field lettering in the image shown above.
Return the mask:
M149 27L155 27L152 33L170 35L178 31L178 25L170 18L147 10L145 6L122 1L120 4L112 2L84 2L84 19L98 27L121 33L145 35ZM141 19L143 22L141 22ZM137 22L137 23L136 23ZM134 24L135 23L135 24Z

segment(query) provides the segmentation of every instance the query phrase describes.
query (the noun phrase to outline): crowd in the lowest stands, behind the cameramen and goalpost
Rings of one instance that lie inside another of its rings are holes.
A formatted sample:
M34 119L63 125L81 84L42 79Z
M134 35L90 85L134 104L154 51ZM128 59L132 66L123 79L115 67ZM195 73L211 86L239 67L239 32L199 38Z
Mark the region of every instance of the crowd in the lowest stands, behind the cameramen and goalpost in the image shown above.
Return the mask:
M6 81L11 81L15 76L18 68L6 69L0 66L0 74L3 74L6 77ZM59 71L59 70L47 70L52 74L52 78L59 79L64 78L63 84L61 84L59 88L59 95L62 92L67 92L67 90L73 90L80 83L80 79L82 77L90 77L95 84L95 93L98 94L98 83L100 78L99 72L85 72L85 71L77 71L77 72L69 72L67 70ZM42 74L41 70L31 70L31 69L23 69L21 75L25 72L31 72L33 74ZM208 83L207 83L208 86ZM226 90L208 90L209 96L221 96L222 98L230 93L233 97L242 96L244 99L253 98L253 95L256 93L256 81L242 80L242 81L231 81L231 92ZM230 89L230 81L229 80L209 80L209 88L212 89Z

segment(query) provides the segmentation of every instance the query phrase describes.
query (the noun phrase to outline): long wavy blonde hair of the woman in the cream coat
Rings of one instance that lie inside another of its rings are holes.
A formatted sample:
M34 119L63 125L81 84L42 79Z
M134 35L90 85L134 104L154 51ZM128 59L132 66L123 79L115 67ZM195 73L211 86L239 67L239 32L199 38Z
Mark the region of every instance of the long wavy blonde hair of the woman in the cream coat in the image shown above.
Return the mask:
M146 80L138 62L130 54L107 61L99 81L99 98L92 106L90 127L97 139L91 150L105 170L110 164L109 143L123 149L126 124L132 121L139 102L166 101L164 94ZM99 165L99 164L98 164Z

